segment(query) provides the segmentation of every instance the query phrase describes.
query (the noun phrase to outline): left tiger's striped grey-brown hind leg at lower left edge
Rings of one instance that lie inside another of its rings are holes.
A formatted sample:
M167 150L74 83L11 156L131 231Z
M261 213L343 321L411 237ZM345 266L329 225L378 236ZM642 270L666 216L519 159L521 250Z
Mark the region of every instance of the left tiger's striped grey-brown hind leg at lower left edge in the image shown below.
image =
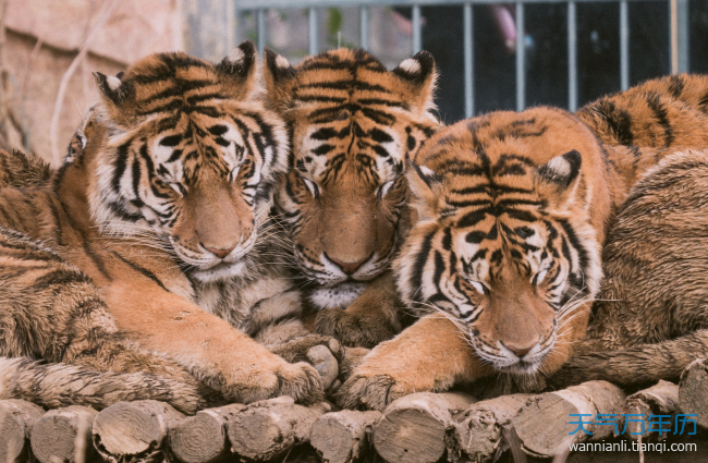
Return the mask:
M192 413L207 404L186 370L121 344L97 288L50 249L0 229L0 278L1 399L98 409L155 399Z

